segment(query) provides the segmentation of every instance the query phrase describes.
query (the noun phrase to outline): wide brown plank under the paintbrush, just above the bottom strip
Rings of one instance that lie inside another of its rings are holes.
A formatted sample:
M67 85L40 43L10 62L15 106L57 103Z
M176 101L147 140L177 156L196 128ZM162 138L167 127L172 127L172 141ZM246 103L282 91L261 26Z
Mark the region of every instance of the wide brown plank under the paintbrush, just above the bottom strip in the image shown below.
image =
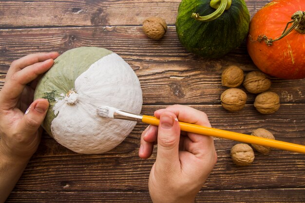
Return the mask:
M193 105L205 110L214 127L250 134L263 127L276 139L305 145L305 117L295 104L293 111L285 105L272 117L223 114L217 106ZM164 106L144 106L143 112ZM251 112L247 107L247 115ZM304 112L304 111L303 111ZM284 119L288 115L289 119ZM43 135L38 152L20 178L15 191L146 191L149 173L156 157L138 157L140 135L147 125L138 123L133 132L118 147L105 154L84 155L72 152ZM273 150L269 155L255 152L252 165L238 167L230 159L230 148L237 142L215 139L218 162L210 174L205 190L304 188L305 157L303 154ZM221 184L219 184L221 183Z

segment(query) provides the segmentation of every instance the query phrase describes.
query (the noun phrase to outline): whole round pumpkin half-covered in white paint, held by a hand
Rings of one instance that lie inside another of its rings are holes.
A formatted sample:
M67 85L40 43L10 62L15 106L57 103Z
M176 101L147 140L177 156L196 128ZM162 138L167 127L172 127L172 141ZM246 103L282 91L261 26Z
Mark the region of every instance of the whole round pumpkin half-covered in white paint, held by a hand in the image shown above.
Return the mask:
M61 54L40 79L34 99L50 102L42 127L77 153L112 150L136 122L97 116L101 105L140 113L142 91L133 69L116 53L80 47Z

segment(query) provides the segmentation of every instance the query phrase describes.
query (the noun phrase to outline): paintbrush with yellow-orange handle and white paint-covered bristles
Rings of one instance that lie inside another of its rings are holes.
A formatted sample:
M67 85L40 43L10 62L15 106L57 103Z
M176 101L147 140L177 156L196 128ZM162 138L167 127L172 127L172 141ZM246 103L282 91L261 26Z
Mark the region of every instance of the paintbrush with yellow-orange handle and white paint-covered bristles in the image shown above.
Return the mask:
M158 126L160 122L158 118L152 116L133 114L131 112L126 112L110 106L100 106L97 108L96 111L98 116L104 118L117 118L124 120L140 121L155 126ZM266 147L287 150L291 152L305 153L305 146L303 145L298 145L289 142L253 136L253 135L245 135L241 133L235 133L231 131L225 131L216 128L210 128L201 125L180 122L180 121L179 121L179 125L181 131L185 131L185 132L221 137L225 139L235 140L239 142L246 142L249 144L263 145Z

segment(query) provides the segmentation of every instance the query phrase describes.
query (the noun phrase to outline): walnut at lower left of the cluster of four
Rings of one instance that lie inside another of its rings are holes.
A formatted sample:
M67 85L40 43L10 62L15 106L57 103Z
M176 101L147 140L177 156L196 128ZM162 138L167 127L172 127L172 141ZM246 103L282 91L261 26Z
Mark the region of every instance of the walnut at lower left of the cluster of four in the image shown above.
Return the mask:
M247 94L238 88L229 88L221 94L221 105L230 112L239 111L244 108Z

